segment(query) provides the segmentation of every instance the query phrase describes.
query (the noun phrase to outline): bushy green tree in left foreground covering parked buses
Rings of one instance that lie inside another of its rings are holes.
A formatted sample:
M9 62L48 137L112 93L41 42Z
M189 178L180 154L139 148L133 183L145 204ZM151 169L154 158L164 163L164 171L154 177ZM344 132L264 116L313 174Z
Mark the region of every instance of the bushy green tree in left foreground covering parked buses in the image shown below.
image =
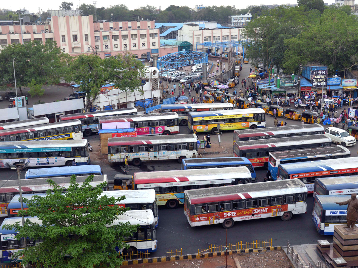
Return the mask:
M125 197L100 196L106 183L93 189L92 179L93 175L80 186L76 183L76 176L72 175L67 192L48 180L53 193L47 190L45 197L35 195L32 199L23 199L28 209L19 213L37 216L42 223L31 223L26 219L24 226L16 223L6 228L16 228L19 240L29 237L43 241L19 252L24 256L23 264L38 262L46 268L93 268L100 264L115 268L121 265L123 259L116 247L128 248L124 237L135 232L137 225L113 225L117 216L128 208L110 205Z

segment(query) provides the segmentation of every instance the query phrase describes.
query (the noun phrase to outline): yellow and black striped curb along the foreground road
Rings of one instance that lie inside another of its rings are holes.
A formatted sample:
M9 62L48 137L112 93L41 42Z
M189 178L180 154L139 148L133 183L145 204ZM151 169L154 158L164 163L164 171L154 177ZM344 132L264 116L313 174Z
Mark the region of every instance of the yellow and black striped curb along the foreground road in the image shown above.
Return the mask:
M216 256L226 256L237 253L253 253L253 252L265 252L270 250L281 250L281 246L277 247L267 247L267 248L258 248L258 249L241 249L241 250L228 250L221 252L211 252L205 254L188 254L182 256L171 256L171 257L158 257L158 258L145 258L145 259L136 259L136 260L125 260L122 265L135 265L135 264L143 264L143 263L159 263L159 262L174 262L175 260L192 260L192 259L206 259L209 257Z

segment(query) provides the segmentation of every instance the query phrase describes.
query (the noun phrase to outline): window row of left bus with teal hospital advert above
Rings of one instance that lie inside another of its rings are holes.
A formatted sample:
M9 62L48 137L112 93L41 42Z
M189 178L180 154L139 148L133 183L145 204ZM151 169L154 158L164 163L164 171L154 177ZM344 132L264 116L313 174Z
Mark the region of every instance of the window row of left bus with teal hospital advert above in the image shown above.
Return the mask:
M0 153L0 159L44 158L44 157L88 157L88 147L72 147L71 151Z

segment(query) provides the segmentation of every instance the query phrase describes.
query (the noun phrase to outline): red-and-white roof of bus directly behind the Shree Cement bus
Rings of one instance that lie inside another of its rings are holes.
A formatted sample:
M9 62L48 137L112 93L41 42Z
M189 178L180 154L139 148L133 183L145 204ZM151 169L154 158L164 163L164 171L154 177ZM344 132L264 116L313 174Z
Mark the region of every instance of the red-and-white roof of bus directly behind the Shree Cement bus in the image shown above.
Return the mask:
M136 172L133 175L134 184L145 184L145 187L156 187L156 184L179 183L189 185L189 182L204 180L243 179L251 178L247 167L184 169L152 172ZM175 185L175 184L174 184ZM159 186L159 185L158 185ZM161 185L160 185L161 186ZM142 187L140 187L142 188Z

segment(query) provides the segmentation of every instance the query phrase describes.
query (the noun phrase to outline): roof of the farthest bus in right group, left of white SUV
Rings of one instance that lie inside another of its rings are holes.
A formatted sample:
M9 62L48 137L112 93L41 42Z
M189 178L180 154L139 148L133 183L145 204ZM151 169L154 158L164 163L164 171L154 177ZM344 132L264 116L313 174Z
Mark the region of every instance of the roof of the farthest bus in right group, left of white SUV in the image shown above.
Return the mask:
M306 132L306 131L324 131L323 126L319 124L306 124L306 125L291 125L291 126L280 126L279 128L265 128L265 129L241 129L234 130L239 137L256 137L256 136L270 136L270 135L278 135L282 133L296 133L297 131Z

